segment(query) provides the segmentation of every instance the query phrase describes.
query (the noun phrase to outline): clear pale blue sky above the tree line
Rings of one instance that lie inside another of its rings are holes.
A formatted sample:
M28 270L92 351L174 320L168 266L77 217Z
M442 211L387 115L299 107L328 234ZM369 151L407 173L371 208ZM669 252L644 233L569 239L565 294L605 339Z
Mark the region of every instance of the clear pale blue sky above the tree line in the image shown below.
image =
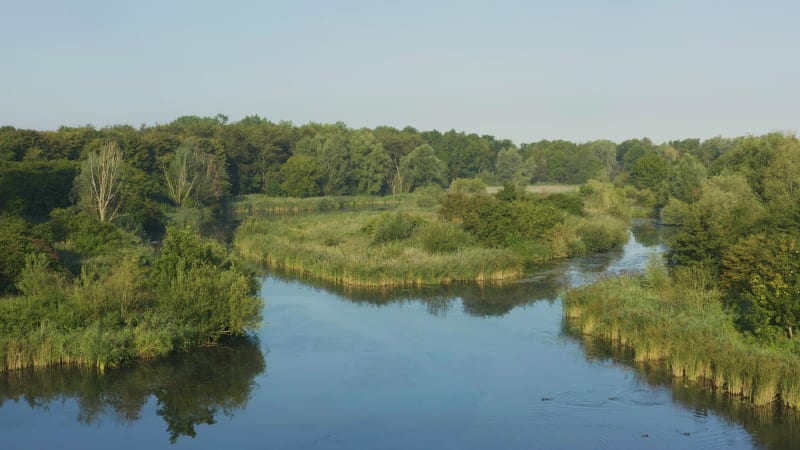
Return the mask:
M796 131L800 2L0 0L0 125Z

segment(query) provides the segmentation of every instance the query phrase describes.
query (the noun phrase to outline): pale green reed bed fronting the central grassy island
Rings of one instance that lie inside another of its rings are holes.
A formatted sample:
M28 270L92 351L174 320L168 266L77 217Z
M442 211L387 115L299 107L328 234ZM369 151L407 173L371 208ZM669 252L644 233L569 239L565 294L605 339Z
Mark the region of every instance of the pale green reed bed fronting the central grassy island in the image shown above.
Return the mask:
M437 220L433 212L414 211L429 222ZM502 282L523 274L522 259L509 249L472 245L452 252L430 252L413 237L376 245L364 227L380 214L251 217L237 230L234 245L250 261L350 286Z

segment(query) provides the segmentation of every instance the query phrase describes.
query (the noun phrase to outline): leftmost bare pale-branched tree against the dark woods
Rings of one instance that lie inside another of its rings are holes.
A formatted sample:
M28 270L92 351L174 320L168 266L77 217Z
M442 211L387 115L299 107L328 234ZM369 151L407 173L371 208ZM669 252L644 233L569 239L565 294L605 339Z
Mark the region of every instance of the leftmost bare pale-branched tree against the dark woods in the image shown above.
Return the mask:
M108 142L86 156L75 187L81 205L96 213L101 222L110 222L121 205L121 182L122 151L115 142Z

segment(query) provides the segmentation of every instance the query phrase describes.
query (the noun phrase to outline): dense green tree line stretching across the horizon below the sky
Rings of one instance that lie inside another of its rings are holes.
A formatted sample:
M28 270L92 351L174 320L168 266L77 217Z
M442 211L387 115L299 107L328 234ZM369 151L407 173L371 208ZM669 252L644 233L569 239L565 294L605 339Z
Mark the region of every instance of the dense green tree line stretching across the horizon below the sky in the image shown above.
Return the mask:
M153 237L174 208L219 212L231 196L390 195L476 178L517 186L594 179L629 189L665 223L679 226L670 265L718 283L742 329L793 335L800 325L792 256L800 150L785 133L515 145L455 130L297 126L258 116L231 123L223 115L184 116L139 128L6 126L0 128L0 239L7 250L0 289L16 291L20 255L48 253L65 230L89 227L83 216L66 220L63 210L72 205L91 220ZM48 221L67 225L47 233L31 226Z

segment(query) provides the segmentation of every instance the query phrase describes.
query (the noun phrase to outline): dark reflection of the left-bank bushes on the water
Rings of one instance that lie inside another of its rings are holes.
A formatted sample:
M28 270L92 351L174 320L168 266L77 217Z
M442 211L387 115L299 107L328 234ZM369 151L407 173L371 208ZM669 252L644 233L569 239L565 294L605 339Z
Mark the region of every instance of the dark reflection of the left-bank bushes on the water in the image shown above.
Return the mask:
M175 443L180 436L195 437L195 426L212 425L219 414L232 416L243 410L256 376L265 369L258 342L239 338L104 374L77 367L0 373L0 406L22 401L48 409L52 403L74 400L80 423L95 424L107 417L132 423L153 399Z

